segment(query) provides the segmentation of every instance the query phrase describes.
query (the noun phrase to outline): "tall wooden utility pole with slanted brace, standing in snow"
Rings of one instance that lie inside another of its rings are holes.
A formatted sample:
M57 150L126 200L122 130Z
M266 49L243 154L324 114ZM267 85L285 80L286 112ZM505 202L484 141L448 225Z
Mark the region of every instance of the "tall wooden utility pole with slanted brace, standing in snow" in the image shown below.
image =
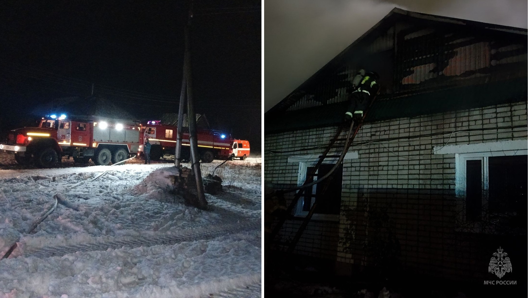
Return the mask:
M194 103L193 103L193 93L192 93L192 72L191 72L191 46L190 46L190 37L189 33L191 30L191 19L193 17L192 12L192 1L189 8L189 18L187 25L185 26L185 57L183 63L184 69L184 80L185 84L182 84L182 92L184 94L184 88L187 89L187 122L189 125L189 142L191 143L191 164L193 169L193 174L196 179L196 190L197 190L197 201L193 202L195 207L200 209L205 209L207 206L207 201L205 200L205 194L203 190L202 182L202 171L200 170L200 153L198 152L198 143L196 138L196 114L194 112ZM181 138L181 128L183 127L183 107L185 107L182 100L180 100L180 111L178 112L178 131L177 136ZM177 137L178 138L178 137ZM180 141L180 157L181 157L181 139ZM176 143L177 145L178 143ZM178 146L176 146L178 150ZM176 153L176 152L175 152ZM179 165L179 160L176 159L176 162Z

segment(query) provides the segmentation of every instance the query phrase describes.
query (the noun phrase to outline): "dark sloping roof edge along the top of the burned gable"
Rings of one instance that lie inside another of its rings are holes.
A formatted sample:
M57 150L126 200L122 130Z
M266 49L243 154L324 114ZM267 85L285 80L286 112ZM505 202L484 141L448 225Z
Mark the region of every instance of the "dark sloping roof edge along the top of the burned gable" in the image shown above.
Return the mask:
M315 74L310 76L308 80L306 80L303 84L301 84L293 92L288 94L286 98L282 99L274 107L269 109L265 113L265 117L270 116L271 114L286 111L286 109L288 109L293 103L295 103L295 101L297 101L299 98L303 97L303 95L306 94L305 89L310 84L312 84L315 80L317 80L319 76L323 75L323 73L326 70L332 69L333 66L338 65L340 61L343 59L343 57L349 54L350 52L352 52L359 43L361 43L363 40L366 39L367 36L382 32L383 30L386 30L387 28L389 28L390 26L392 26L395 22L399 20L407 20L407 21L423 20L425 22L431 22L431 23L445 23L447 25L453 25L453 26L473 27L473 28L478 28L479 30L493 30L493 31L513 33L513 34L520 34L520 35L527 35L527 32L528 32L528 30L526 30L525 28L517 28L517 27L489 24L489 23L483 23L483 22L477 22L477 21L469 21L469 20L463 20L459 18L446 17L446 16L423 14L423 13L406 11L401 8L394 8L389 14L383 17L382 20L380 20L378 23L372 26L368 31L366 31L363 35L361 35L358 39L356 39L351 45L347 46L346 49L343 50L341 53L339 53L337 56L335 56L334 59L332 59L326 65L324 65L323 68L321 68Z

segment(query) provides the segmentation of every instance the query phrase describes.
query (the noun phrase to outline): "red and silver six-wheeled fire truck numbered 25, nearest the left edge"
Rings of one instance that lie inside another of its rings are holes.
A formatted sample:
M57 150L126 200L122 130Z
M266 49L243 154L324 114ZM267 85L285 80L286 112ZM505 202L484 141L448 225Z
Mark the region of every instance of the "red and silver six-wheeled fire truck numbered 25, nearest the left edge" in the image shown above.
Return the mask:
M21 165L34 162L47 168L62 157L73 157L76 162L92 159L106 166L138 151L140 130L138 123L126 120L76 121L51 115L42 118L39 127L12 130L0 149L14 151Z

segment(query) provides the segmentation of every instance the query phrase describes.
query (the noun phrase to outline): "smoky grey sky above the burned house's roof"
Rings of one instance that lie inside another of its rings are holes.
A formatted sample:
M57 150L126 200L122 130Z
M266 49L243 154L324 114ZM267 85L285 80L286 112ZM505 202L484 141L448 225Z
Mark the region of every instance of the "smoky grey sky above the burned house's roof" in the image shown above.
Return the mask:
M264 111L284 99L394 7L527 27L526 0L266 0Z

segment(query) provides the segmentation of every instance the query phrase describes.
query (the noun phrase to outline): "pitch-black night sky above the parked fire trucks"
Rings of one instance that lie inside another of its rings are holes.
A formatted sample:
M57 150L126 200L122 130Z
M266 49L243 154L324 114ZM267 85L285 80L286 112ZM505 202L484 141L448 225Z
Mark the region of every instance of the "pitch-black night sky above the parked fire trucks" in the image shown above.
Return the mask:
M0 6L0 133L56 98L105 97L138 119L177 112L186 1L49 1ZM196 0L193 98L214 129L260 151L261 3Z

